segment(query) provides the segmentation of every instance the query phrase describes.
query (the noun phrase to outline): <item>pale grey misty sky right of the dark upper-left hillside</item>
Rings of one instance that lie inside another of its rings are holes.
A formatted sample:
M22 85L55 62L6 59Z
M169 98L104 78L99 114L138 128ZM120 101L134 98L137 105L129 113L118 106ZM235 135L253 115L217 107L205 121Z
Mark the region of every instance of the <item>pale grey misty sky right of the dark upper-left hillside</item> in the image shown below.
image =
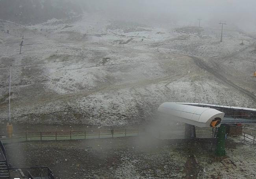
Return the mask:
M117 18L163 20L178 25L218 26L219 20L248 31L256 28L256 0L95 0L99 10Z

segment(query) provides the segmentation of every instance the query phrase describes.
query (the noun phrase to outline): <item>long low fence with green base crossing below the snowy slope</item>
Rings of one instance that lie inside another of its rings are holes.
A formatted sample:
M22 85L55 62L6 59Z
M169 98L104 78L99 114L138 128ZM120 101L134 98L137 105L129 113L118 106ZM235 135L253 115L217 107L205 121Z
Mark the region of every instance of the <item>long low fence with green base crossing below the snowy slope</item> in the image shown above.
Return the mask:
M12 138L0 135L3 143L42 141L42 140L80 140L93 138L113 138L138 136L144 129L112 129L112 130L91 130L91 131L26 131L14 133Z

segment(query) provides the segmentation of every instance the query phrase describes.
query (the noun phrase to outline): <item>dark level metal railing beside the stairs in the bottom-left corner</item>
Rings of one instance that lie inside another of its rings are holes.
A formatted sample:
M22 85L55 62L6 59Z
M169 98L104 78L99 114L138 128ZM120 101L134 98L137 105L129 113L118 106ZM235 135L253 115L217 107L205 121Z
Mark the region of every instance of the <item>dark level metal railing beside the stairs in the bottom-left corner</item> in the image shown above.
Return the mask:
M48 167L9 168L9 173L11 178L34 179L35 177L47 177L48 179L54 179L52 170Z

